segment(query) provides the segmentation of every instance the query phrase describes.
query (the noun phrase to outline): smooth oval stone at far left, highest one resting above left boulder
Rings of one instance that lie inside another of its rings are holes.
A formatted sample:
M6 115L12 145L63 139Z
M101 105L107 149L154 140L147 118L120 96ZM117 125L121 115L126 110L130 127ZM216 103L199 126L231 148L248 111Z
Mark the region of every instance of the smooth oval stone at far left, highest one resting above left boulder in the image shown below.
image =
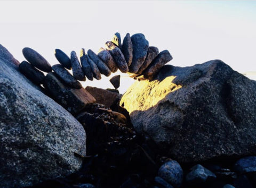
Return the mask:
M27 61L37 67L39 70L44 72L52 72L50 63L48 63L46 59L42 55L38 54L34 49L26 47L22 49L22 53Z

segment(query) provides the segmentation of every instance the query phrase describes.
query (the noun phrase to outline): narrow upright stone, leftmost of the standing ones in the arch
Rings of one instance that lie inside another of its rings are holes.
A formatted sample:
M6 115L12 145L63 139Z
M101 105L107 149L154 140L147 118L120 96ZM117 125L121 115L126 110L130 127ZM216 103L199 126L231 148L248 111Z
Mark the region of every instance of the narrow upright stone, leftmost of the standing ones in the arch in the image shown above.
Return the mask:
M73 76L77 80L85 81L85 75L82 70L82 67L78 61L77 55L75 51L71 52L71 66L72 66L72 71L73 71Z

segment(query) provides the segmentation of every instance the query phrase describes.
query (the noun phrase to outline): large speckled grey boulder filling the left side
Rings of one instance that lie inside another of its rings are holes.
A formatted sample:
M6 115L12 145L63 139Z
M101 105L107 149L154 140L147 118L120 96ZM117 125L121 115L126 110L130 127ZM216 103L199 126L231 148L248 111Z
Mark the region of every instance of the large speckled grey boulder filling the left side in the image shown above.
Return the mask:
M0 187L75 172L85 156L83 126L26 79L2 46L0 52Z

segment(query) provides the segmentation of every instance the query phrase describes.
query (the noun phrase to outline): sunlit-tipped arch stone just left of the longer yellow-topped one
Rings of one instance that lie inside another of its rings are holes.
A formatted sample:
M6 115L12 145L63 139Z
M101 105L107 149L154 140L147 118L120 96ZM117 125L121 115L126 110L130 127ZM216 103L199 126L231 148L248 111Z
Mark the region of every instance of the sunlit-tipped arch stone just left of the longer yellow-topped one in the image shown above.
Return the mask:
M118 70L114 58L111 56L108 50L100 48L98 56L102 59L104 63L106 63L106 65L108 65L111 72L116 72Z

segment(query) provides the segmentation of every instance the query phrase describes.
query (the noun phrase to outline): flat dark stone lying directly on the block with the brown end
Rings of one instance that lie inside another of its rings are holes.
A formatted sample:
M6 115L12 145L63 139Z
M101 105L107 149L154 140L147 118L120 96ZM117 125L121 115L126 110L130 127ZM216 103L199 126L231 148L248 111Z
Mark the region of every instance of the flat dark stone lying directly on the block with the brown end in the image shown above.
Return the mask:
M64 66L61 64L56 64L52 66L52 70L59 76L59 78L65 82L68 87L80 89L82 84L77 81L73 75L71 75Z

